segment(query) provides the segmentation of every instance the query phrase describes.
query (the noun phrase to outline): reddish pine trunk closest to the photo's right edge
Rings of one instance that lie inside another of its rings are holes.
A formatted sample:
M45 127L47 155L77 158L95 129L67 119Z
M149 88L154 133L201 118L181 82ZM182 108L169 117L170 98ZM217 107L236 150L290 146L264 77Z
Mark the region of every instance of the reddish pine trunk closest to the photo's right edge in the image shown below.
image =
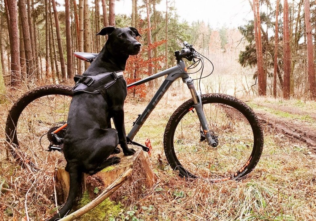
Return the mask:
M309 0L305 0L305 25L307 37L307 71L308 71L308 86L311 98L316 98L316 82L315 82L315 64L314 64L314 49L312 38L311 12Z

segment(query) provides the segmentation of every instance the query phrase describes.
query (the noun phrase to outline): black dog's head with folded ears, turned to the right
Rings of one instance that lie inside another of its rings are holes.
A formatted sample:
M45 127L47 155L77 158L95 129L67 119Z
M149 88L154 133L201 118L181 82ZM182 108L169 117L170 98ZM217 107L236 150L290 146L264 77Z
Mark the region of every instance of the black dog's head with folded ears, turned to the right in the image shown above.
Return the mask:
M116 51L125 55L137 55L141 44L136 40L137 36L142 37L136 28L116 28L113 26L104 27L96 35L108 35L106 44L112 46Z

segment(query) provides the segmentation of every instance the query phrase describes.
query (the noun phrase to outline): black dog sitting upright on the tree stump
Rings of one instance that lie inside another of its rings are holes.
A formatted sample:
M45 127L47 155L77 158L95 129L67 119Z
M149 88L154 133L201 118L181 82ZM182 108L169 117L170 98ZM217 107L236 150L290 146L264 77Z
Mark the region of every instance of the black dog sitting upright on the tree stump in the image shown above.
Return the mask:
M135 39L140 34L134 27L105 27L97 34L107 34L108 40L83 75L124 70L127 58L140 51L141 44ZM119 143L125 155L135 153L126 142L123 108L126 95L126 81L121 77L106 89L107 99L101 94L89 93L73 97L64 138L65 170L70 175L70 190L64 207L49 221L58 220L71 210L80 189L82 173L93 175L120 162L118 157L108 158L113 152L120 152ZM111 128L111 117L117 132Z

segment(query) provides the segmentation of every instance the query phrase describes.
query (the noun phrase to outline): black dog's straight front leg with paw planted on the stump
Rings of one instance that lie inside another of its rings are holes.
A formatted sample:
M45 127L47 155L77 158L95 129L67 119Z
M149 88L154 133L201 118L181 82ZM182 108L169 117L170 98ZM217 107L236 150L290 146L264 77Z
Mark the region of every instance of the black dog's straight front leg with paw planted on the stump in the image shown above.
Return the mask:
M133 155L136 151L133 148L128 148L127 146L123 106L114 108L113 118L115 128L118 132L119 143L122 147L124 155Z

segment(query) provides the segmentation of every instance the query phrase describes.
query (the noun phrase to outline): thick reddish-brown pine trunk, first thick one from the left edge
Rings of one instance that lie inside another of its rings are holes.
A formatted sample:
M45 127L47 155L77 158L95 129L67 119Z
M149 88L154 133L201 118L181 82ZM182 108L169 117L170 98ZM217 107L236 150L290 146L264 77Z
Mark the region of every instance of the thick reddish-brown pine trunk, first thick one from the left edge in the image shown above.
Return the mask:
M9 27L9 41L11 53L11 86L17 86L21 76L20 69L20 44L18 33L18 16L17 16L17 2L4 0L4 6L8 11L8 27Z

